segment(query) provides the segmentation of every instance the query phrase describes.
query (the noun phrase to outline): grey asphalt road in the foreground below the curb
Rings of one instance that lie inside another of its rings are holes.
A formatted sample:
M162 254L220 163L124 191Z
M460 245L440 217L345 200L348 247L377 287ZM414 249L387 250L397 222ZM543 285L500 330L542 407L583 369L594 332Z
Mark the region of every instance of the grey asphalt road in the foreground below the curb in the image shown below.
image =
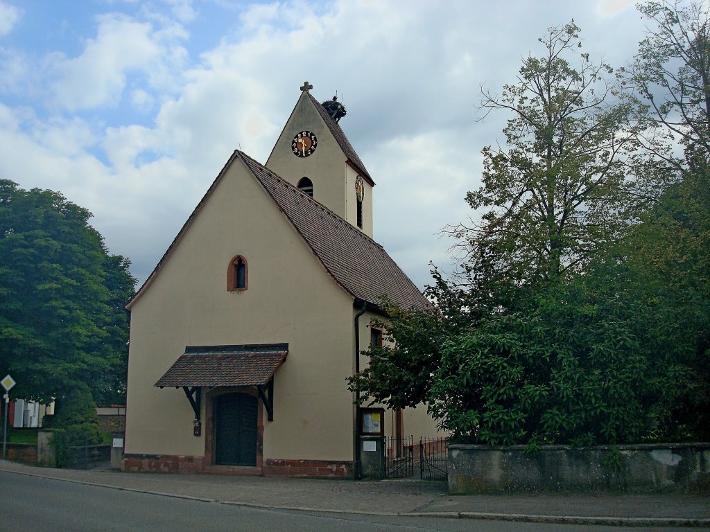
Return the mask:
M0 472L0 530L3 532L84 531L531 531L606 532L608 526L512 523L431 517L334 515L252 509L231 504L126 492ZM651 531L657 528L633 528ZM664 528L667 531L697 528Z

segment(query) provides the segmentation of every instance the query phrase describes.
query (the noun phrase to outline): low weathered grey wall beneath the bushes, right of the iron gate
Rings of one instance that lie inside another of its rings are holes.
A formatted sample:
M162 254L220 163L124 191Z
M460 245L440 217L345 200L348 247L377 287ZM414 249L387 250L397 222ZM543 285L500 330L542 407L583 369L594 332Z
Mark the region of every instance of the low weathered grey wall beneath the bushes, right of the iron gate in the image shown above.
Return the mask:
M710 443L572 449L449 445L449 492L710 493Z

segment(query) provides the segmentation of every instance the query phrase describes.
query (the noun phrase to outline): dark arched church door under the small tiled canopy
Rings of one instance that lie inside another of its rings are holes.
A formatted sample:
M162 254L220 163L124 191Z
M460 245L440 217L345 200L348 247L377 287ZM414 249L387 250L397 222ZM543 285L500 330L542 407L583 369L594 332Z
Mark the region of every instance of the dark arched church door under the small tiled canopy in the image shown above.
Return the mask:
M214 463L256 466L258 399L249 394L217 397Z

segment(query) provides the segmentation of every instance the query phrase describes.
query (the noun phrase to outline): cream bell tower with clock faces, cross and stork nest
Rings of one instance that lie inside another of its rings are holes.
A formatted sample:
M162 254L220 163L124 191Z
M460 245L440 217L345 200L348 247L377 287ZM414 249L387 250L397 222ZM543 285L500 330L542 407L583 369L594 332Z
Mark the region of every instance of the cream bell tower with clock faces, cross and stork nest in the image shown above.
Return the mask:
M266 167L372 237L372 189L365 165L339 125L337 96L319 103L305 82Z

